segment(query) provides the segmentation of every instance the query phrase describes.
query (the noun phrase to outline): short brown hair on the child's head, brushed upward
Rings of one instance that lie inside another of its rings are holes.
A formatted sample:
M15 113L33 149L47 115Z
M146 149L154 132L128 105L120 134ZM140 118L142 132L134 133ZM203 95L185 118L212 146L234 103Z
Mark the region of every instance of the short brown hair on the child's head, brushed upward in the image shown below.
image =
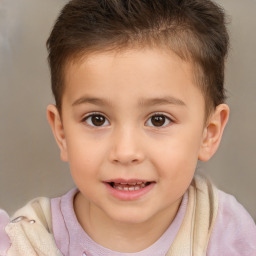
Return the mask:
M210 0L71 0L62 9L47 49L59 111L65 65L93 52L164 47L192 61L206 112L225 100L229 36L224 11Z

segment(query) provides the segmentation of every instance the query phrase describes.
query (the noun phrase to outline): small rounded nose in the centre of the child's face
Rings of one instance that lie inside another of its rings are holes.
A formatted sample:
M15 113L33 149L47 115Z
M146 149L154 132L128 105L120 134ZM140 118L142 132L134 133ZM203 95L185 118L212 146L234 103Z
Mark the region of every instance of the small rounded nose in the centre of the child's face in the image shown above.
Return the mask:
M145 159L141 135L135 129L122 128L113 133L110 161L115 164L139 164Z

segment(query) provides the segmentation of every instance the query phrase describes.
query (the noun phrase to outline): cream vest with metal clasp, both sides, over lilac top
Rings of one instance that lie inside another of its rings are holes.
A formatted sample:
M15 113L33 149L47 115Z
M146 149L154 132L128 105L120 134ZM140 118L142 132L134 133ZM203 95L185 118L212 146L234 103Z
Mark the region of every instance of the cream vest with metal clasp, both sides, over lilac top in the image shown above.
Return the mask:
M166 256L206 256L218 209L218 190L195 177L181 228ZM37 198L18 210L6 226L12 246L7 256L62 256L52 232L50 199Z

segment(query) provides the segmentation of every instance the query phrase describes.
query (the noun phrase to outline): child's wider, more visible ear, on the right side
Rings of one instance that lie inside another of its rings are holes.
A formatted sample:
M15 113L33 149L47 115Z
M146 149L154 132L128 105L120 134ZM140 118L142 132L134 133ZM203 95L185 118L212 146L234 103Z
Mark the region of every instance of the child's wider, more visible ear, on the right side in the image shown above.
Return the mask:
M228 122L229 107L226 104L220 104L209 117L203 131L202 144L198 159L208 161L217 151L224 128Z

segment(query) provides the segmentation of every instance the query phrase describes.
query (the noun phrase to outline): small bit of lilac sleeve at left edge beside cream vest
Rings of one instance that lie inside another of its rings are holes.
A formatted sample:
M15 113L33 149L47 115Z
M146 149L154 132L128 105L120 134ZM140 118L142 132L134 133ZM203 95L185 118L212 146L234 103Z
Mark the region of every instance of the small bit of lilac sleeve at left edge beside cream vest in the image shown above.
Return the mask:
M0 255L6 255L11 242L9 236L5 232L6 225L10 222L8 214L0 209Z

